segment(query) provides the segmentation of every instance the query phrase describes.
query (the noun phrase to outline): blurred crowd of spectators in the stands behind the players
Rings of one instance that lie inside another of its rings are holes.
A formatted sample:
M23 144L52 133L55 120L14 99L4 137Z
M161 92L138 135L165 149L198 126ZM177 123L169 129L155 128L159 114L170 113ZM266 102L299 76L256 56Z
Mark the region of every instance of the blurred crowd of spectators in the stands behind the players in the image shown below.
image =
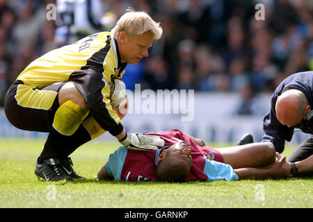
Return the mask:
M91 13L68 8L83 2ZM0 105L6 89L31 61L80 37L110 31L129 6L160 22L163 36L148 58L127 65L123 80L128 89L141 83L141 89L239 92L248 104L256 94L273 92L290 74L313 70L310 0L91 2L0 0ZM47 19L49 3L60 4L56 20ZM264 5L264 20L255 17L257 3ZM243 106L239 112L247 110Z

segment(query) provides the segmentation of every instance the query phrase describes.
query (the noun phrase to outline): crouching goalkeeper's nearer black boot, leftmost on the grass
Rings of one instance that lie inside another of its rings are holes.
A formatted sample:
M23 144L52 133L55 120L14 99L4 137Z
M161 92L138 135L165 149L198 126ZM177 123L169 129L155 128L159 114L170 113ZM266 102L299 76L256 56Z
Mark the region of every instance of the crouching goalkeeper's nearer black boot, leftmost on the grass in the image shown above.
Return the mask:
M38 178L43 178L47 181L73 181L71 177L67 176L62 171L61 161L55 158L44 160L42 164L38 164L37 161L35 166L35 175Z

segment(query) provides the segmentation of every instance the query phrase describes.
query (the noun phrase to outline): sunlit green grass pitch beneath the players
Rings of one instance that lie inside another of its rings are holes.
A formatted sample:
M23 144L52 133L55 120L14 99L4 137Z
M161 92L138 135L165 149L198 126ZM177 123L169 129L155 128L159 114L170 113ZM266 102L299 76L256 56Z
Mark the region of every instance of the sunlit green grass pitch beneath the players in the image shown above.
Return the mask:
M0 208L313 207L312 178L99 182L94 177L119 146L102 140L85 144L71 155L75 171L86 180L45 182L34 174L44 143L44 139L0 139ZM293 149L287 146L283 155L289 156Z

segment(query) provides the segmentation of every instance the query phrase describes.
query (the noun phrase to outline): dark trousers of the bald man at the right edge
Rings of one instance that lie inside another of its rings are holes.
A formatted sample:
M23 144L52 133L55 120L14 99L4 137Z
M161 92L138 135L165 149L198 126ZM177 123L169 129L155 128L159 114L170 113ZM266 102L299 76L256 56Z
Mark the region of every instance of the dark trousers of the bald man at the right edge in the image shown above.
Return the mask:
M313 155L313 136L305 139L295 150L291 153L288 158L288 162L298 162L305 160L307 157ZM313 171L298 173L297 177L313 177Z

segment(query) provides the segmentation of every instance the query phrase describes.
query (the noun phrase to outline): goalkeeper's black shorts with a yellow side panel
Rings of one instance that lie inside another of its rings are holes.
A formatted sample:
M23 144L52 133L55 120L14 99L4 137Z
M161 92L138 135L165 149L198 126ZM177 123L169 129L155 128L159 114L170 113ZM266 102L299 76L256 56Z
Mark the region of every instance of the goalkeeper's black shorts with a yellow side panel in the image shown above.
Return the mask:
M4 103L8 121L21 130L49 132L59 107L58 92L65 83L38 88L16 80L8 89Z

